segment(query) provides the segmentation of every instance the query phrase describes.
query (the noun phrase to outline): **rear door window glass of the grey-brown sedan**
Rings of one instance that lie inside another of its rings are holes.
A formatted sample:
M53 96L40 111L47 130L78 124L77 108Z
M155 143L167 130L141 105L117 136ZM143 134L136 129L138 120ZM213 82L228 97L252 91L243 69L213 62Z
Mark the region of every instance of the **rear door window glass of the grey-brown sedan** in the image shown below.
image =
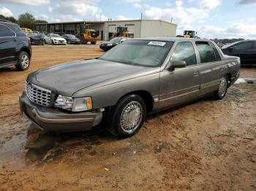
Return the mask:
M196 42L199 51L201 63L215 62L217 59L214 55L214 50L208 42Z

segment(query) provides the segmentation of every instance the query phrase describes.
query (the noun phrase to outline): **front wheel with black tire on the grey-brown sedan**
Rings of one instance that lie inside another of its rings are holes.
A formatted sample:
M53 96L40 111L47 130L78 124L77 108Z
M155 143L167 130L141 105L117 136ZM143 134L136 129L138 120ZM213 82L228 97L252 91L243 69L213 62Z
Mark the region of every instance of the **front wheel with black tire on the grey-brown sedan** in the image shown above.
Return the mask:
M136 117L135 114L139 116ZM143 98L136 94L127 95L115 107L108 130L113 136L130 137L138 133L145 119L146 105Z

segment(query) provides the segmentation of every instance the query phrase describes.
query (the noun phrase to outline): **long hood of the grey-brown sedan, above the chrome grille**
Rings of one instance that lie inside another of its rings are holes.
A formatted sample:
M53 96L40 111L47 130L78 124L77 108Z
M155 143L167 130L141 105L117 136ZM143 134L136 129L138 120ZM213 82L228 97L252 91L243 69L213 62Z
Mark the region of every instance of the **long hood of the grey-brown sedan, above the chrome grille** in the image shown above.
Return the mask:
M72 96L78 90L91 85L110 82L111 79L138 74L148 69L150 68L94 59L64 63L35 71L29 74L27 80L53 93Z

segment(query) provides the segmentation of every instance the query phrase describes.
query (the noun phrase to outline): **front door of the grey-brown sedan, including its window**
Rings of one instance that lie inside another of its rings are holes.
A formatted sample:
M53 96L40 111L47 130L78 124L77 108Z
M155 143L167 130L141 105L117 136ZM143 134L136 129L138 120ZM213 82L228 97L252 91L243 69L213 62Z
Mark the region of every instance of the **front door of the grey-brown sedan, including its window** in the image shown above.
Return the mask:
M178 42L171 60L186 61L187 66L160 72L159 109L184 103L199 94L200 77L195 45L192 42Z

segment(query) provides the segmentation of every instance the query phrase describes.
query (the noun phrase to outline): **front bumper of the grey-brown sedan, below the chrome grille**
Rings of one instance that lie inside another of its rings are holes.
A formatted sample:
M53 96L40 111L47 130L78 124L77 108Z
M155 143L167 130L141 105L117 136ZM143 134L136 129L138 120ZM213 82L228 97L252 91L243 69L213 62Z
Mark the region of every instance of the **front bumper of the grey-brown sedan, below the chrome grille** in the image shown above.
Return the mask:
M29 101L25 92L20 96L19 101L20 112L26 114L29 120L41 130L50 132L91 130L102 120L102 112L72 113L39 106Z

